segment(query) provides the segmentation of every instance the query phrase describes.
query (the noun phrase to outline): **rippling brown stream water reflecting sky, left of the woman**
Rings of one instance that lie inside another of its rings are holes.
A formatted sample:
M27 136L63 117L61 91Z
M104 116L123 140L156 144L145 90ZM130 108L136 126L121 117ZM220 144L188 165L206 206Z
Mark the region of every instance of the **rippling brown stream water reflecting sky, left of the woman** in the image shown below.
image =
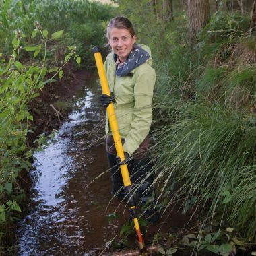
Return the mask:
M69 121L44 151L34 154L37 181L18 229L19 255L93 255L90 248L104 247L113 235L105 212L108 175L87 187L107 166L104 146L92 143L92 131L102 119L97 87L94 83L81 91Z

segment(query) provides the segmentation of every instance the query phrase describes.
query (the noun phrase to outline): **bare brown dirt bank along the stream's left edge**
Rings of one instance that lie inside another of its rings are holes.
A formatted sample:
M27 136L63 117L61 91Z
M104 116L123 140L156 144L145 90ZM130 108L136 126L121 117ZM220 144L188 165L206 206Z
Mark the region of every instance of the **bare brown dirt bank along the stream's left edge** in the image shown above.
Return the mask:
M30 133L28 137L30 145L37 135L57 129L67 119L73 96L84 86L90 73L92 71L85 69L73 71L71 65L67 65L63 78L46 85L40 92L40 96L30 103L30 111L34 117L31 124L34 134Z

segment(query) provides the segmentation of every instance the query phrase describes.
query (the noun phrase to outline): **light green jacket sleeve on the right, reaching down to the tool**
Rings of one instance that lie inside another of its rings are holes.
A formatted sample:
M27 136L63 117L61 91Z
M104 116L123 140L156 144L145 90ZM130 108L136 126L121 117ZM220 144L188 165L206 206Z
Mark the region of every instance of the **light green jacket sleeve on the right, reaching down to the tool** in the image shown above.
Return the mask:
M130 156L139 148L150 131L152 123L152 98L156 73L152 67L139 73L134 86L135 105L131 130L125 138L123 150Z

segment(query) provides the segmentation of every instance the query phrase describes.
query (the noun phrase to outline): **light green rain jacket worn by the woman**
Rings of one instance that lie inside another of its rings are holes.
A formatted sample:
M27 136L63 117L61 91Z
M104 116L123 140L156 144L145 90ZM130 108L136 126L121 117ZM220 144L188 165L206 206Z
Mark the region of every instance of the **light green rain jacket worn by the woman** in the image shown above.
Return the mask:
M150 54L150 58L129 75L115 75L116 65L113 52L109 53L104 63L110 91L115 95L113 104L121 138L125 139L123 150L130 156L146 138L152 123L152 97L156 73L151 67L150 48L140 44ZM106 117L106 135L110 134L110 125Z

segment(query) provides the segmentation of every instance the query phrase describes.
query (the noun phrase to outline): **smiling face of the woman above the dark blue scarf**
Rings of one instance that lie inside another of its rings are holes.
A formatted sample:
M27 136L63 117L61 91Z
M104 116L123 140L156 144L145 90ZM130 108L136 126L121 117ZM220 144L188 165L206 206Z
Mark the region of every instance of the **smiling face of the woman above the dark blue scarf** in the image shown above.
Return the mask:
M123 63L131 50L133 44L136 41L136 36L131 36L129 30L126 28L112 28L109 33L108 43L110 44L112 51L119 57L121 63Z

